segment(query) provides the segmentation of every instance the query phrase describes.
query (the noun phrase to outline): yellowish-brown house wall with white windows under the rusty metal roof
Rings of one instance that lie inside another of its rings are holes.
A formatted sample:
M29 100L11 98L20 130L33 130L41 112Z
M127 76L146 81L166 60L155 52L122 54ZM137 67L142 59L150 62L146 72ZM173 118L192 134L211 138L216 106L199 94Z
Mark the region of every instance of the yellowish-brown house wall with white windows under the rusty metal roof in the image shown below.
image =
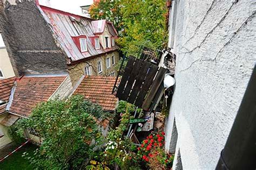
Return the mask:
M115 59L115 64L112 65L112 56L114 56ZM110 57L110 68L107 69L106 67L106 58ZM102 68L103 68L103 72L102 73L98 73L98 67L97 67L97 63L99 60L102 60ZM116 64L119 61L119 52L118 51L113 51L107 54L104 54L102 56L98 56L92 59L88 59L84 62L80 62L77 64L73 64L73 65L68 65L68 71L69 71L69 75L71 78L72 83L76 83L80 77L82 77L85 74L85 67L90 65L90 69L91 69L91 75L92 76L109 76L111 72L115 72L116 76L117 76L117 71L114 70L114 66L116 66Z

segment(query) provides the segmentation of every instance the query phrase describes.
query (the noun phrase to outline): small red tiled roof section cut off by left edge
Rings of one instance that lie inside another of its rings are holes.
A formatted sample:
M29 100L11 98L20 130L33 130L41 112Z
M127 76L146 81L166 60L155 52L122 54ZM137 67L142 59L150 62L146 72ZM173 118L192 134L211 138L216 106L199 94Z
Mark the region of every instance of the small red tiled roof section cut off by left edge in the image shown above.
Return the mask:
M0 99L4 102L8 102L11 93L12 86L16 77L0 79Z

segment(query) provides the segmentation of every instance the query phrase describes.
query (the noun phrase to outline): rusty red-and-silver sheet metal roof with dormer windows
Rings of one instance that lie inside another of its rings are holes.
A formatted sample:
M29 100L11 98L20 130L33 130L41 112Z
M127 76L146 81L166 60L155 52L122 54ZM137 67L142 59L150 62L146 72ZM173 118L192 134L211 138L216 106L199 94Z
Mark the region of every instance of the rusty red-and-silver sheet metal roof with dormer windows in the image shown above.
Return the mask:
M62 47L62 49L66 52L66 55L71 58L72 61L97 56L105 52L117 50L118 46L112 46L109 49L103 49L103 46L100 44L100 49L95 50L95 46L91 42L90 38L87 38L87 52L80 52L75 42L73 42L72 36L78 35L86 35L87 37L95 36L93 33L94 29L91 24L91 19L87 19L86 17L75 18L75 22L70 20L70 16L68 14L64 14L64 12L56 12L45 10L42 8L41 10L45 21L51 25L51 29L54 32L58 43Z

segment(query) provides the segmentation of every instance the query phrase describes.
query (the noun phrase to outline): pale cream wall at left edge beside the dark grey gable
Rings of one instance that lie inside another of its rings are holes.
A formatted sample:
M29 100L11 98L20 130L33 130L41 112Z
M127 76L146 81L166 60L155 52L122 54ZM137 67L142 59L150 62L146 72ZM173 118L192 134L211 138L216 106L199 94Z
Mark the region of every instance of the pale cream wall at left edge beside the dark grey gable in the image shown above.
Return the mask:
M15 73L5 48L0 49L0 69L3 72L4 78L14 77Z

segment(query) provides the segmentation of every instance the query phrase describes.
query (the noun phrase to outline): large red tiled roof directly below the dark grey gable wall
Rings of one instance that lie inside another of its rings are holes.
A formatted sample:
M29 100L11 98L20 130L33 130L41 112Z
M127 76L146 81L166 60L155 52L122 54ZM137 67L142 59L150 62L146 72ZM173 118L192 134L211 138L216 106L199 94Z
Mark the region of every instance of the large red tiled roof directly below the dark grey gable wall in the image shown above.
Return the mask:
M33 107L51 97L65 77L23 77L17 81L10 112L28 117Z

